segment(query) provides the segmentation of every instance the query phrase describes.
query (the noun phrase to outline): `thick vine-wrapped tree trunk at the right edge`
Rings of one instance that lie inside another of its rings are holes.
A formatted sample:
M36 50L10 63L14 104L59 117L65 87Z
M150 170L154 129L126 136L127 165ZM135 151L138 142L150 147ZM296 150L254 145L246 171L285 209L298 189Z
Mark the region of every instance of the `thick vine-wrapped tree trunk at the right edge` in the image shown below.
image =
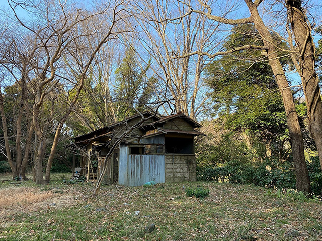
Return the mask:
M315 72L315 45L311 35L311 27L300 3L286 1L286 5L288 21L300 52L297 59L299 68L297 71L301 76L305 94L308 127L315 141L322 168L322 101L318 76Z

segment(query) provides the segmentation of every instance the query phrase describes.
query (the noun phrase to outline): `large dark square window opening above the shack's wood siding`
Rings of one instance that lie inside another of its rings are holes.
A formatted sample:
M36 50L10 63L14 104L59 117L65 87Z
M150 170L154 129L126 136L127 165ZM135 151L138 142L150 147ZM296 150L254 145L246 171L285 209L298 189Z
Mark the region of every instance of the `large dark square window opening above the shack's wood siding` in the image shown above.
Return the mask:
M166 137L166 153L193 154L193 138Z

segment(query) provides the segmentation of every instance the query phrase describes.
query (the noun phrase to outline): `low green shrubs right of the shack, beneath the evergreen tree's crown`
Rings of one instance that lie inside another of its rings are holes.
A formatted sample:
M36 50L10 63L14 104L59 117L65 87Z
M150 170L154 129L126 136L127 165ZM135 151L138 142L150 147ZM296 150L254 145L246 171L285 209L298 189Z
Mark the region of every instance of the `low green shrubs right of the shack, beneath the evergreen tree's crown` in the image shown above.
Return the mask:
M258 138L250 134L240 136L228 132L215 137L208 135L204 142L198 142L197 180L254 184L277 189L296 189L292 156L281 144L277 153L266 155L266 148ZM281 158L284 156L284 158ZM318 156L307 161L312 193L322 195L322 171Z

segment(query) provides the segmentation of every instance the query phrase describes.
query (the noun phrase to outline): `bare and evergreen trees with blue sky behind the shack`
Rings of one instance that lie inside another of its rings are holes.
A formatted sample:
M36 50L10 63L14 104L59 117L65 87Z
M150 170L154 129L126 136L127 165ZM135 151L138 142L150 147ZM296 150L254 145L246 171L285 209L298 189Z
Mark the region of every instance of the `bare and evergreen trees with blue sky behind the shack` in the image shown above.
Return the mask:
M1 172L49 182L73 137L158 108L204 126L199 180L322 194L318 1L8 4Z

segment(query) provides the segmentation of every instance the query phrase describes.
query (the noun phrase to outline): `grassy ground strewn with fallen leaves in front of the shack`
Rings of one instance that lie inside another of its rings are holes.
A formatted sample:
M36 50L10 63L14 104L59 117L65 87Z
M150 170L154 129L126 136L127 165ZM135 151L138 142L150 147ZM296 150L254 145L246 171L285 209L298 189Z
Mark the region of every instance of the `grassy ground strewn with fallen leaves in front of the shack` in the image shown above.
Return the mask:
M322 240L322 203L229 183L49 185L0 176L0 240ZM210 189L204 199L185 188ZM145 227L154 223L151 233Z

